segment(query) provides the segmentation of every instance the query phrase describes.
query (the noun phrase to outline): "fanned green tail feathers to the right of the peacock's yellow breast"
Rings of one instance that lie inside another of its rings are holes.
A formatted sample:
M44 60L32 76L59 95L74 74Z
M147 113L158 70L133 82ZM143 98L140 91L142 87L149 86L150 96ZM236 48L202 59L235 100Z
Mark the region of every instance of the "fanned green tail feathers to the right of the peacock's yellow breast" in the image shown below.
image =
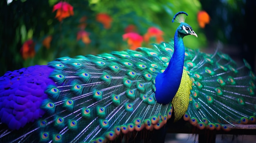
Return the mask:
M255 75L249 64L238 66L228 56L186 49L184 68L192 83L184 120L200 129L230 130L225 124L255 123Z

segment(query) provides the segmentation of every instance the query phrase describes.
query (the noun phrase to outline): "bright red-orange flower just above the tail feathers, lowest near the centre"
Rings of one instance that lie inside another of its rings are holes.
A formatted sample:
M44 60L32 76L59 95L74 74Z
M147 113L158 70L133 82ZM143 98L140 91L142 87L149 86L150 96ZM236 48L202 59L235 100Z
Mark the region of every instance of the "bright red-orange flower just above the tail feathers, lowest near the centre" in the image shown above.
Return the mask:
M140 47L143 42L143 37L135 32L126 33L123 35L123 39L128 39L128 45L130 49L135 50L136 48Z

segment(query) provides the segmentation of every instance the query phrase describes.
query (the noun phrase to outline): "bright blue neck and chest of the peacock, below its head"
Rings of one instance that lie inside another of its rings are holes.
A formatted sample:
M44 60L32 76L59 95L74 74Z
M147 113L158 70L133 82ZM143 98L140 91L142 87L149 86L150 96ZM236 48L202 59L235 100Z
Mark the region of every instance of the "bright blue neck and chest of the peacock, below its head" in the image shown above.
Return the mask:
M164 73L159 73L155 79L155 98L158 103L170 103L180 86L185 54L182 38L176 30L173 56Z

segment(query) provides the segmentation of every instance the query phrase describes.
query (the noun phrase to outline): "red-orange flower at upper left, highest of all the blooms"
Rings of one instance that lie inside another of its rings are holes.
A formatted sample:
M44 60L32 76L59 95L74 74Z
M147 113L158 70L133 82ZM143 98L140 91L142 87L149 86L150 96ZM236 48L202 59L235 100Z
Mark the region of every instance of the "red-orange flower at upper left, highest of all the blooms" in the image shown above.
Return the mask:
M67 3L67 2L58 2L54 5L52 12L56 11L55 18L58 19L58 21L62 21L64 18L69 17L70 15L74 15L73 7Z

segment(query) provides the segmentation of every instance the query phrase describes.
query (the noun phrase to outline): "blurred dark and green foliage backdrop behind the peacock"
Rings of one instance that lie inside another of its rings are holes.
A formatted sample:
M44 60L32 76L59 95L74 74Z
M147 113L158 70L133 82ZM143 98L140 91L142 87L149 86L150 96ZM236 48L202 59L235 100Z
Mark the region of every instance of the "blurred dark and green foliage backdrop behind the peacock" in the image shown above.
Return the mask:
M248 24L255 17L253 0L65 0L73 7L74 15L61 21L55 18L58 10L53 11L58 2L62 1L0 1L0 75L8 70L47 64L58 57L124 50L129 46L122 35L129 25L134 25L133 31L141 36L149 27L160 29L168 42L179 25L171 22L178 11L189 14L186 22L198 34L198 38L185 37L185 46L205 48L218 40L234 44L254 66L255 44L248 37L255 33ZM197 20L202 10L211 18L204 29ZM97 20L99 13L109 16L105 19L110 20L109 27ZM142 42L141 46L151 47L150 43L156 43L156 39L150 38L150 42ZM30 55L24 55L24 47Z

